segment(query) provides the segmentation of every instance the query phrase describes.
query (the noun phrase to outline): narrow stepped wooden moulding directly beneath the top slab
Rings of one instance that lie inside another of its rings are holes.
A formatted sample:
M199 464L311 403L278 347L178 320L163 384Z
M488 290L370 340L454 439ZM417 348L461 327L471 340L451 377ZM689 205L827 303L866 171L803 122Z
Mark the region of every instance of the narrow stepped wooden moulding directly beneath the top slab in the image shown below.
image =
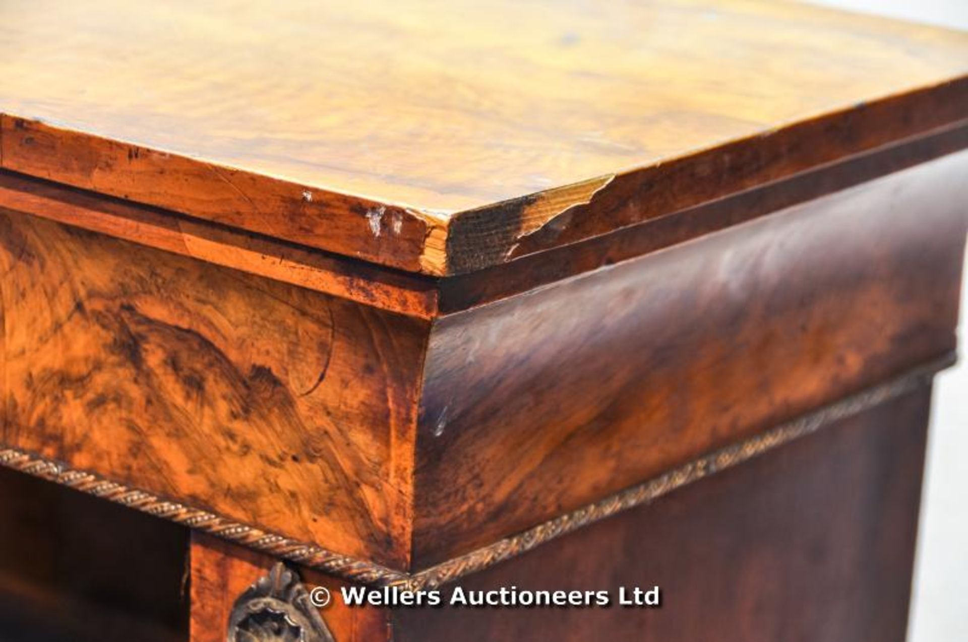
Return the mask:
M493 267L428 277L0 168L0 209L435 320L968 149L968 119Z

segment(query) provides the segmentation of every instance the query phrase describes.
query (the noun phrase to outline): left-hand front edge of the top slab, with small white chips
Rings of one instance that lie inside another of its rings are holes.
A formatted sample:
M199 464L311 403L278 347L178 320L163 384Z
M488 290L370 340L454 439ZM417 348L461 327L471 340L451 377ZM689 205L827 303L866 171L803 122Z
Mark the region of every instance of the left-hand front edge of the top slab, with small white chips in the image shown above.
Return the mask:
M424 255L445 221L10 111L0 112L0 168L412 273L433 274Z

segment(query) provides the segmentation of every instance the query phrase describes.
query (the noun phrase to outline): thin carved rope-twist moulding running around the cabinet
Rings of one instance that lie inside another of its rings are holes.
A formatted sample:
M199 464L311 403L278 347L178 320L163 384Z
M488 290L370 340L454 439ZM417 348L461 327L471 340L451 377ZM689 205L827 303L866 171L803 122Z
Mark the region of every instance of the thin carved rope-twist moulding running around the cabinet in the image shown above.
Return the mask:
M621 490L593 504L560 515L466 555L416 572L390 569L374 562L335 553L317 544L290 540L213 512L194 509L122 483L111 482L94 473L72 469L61 462L33 452L0 447L0 465L350 582L374 587L399 586L409 591L419 591L433 589L469 573L487 569L526 553L547 541L620 511L648 504L686 484L703 480L839 420L928 386L935 374L950 367L956 361L955 352L946 353L910 368L883 383L841 397L789 422L780 423L753 437L693 459L658 477Z

